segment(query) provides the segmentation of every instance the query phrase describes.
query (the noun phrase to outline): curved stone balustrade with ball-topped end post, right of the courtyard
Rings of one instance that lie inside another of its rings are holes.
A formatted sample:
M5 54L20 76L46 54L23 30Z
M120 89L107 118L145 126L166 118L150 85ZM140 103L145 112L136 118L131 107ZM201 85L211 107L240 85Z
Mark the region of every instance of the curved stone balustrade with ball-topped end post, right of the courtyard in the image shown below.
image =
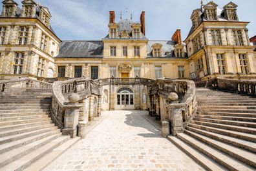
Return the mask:
M195 83L187 80L161 78L150 90L153 111L160 111L163 136L183 132L197 110ZM157 104L160 105L157 105ZM169 122L170 124L166 124ZM169 128L165 128L169 127ZM171 132L166 132L170 130Z

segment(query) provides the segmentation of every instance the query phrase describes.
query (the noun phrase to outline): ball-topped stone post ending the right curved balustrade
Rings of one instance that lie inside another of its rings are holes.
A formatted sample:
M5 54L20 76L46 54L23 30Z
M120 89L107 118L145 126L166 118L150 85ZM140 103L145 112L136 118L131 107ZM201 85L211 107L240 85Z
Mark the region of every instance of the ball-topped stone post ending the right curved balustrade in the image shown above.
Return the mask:
M168 111L169 111L169 121L171 123L171 134L176 136L176 133L183 132L183 119L182 119L182 108L178 104L178 95L176 93L169 93L167 98Z

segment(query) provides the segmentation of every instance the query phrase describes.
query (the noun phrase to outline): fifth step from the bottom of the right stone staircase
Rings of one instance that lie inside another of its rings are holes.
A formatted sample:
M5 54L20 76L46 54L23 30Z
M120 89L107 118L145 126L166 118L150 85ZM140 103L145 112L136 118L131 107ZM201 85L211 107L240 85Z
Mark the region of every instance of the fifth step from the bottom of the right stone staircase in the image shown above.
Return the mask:
M226 136L231 136L234 138L240 138L242 140L251 141L254 143L256 142L256 135L253 135L253 134L247 134L247 133L237 132L237 131L230 131L230 130L219 129L219 128L214 128L214 127L207 127L204 125L198 125L198 124L194 124L194 123L189 123L189 127L202 129L204 131L214 132L214 133L222 134L222 135L226 135Z

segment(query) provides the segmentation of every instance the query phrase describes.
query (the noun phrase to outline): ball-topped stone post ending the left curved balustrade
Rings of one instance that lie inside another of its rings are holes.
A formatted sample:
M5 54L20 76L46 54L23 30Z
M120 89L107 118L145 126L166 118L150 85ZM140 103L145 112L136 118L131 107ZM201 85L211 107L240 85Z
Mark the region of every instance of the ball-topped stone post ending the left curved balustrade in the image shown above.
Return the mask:
M77 93L72 93L69 95L69 104L65 107L62 133L70 135L71 138L78 134L79 109L81 107L81 105L78 105L79 100L80 96Z

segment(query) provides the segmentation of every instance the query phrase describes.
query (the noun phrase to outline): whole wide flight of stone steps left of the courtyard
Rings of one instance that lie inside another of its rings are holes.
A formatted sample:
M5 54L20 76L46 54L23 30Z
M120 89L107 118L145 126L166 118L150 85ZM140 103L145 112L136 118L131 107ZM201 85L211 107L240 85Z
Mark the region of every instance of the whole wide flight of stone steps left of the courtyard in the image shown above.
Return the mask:
M54 126L51 100L49 90L0 96L0 170L41 170L80 139Z

